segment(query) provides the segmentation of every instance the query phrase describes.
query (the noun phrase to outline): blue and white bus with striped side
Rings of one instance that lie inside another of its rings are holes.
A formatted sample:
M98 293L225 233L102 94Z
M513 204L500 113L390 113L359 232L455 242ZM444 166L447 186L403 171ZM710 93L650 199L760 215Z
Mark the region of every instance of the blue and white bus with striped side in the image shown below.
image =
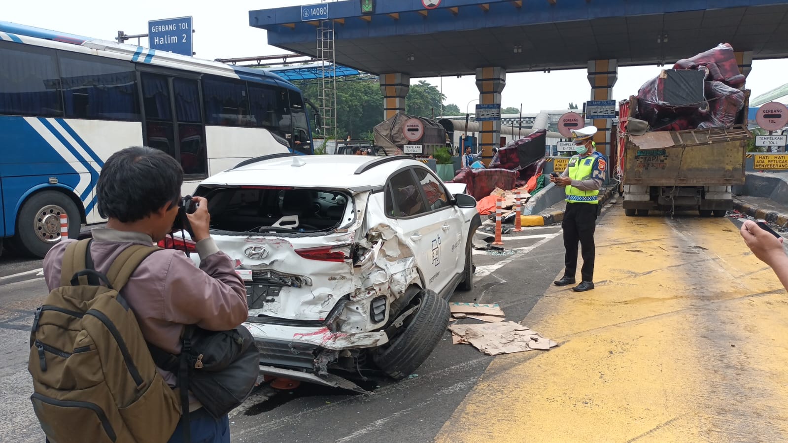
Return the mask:
M95 186L113 152L146 145L205 177L264 154L312 154L298 88L246 69L0 21L2 240L43 257L99 223Z

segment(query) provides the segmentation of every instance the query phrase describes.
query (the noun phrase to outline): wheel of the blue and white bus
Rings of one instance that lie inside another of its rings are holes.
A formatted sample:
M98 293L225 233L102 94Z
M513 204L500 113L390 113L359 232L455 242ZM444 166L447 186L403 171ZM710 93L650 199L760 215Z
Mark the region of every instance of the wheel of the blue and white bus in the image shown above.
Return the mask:
M60 214L69 218L69 237L79 236L80 210L69 197L56 191L39 192L30 197L19 211L14 249L43 258L61 240Z

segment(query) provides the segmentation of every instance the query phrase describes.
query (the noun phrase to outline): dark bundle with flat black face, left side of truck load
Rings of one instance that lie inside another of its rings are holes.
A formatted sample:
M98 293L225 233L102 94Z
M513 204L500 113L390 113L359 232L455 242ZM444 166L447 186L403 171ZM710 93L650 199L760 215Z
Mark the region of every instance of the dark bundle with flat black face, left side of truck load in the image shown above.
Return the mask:
M708 110L704 78L708 71L663 69L637 91L638 118L658 128L661 121Z

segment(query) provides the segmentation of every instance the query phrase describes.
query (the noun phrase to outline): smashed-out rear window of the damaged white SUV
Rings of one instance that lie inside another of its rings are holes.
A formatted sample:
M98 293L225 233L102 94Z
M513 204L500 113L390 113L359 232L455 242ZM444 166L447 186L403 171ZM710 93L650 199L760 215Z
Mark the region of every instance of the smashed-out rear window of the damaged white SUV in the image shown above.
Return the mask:
M350 199L344 192L266 186L217 188L203 196L211 229L238 233L336 229Z

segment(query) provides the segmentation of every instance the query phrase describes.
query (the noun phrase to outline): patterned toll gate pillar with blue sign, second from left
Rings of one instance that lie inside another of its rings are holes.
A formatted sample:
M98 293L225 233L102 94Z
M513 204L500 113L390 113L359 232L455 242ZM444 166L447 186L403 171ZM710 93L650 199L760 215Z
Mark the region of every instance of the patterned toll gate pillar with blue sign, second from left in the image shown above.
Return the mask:
M481 162L489 166L492 161L492 148L500 146L500 93L506 86L506 69L477 68L476 87L479 90L479 105L497 105L498 114L495 112L487 113L488 117L480 120L477 116L476 122L479 124L479 148L481 149ZM494 111L495 106L492 107Z

